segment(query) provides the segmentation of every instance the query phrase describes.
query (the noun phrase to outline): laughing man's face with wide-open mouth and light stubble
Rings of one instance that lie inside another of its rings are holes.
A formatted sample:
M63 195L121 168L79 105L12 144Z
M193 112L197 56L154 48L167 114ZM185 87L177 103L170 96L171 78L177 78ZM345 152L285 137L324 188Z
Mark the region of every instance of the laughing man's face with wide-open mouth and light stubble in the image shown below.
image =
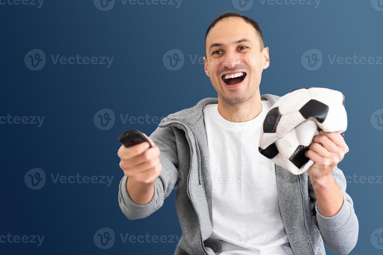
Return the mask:
M269 65L268 48L261 49L251 24L240 17L218 21L206 37L205 50L205 72L221 100L242 103L258 92L262 70Z

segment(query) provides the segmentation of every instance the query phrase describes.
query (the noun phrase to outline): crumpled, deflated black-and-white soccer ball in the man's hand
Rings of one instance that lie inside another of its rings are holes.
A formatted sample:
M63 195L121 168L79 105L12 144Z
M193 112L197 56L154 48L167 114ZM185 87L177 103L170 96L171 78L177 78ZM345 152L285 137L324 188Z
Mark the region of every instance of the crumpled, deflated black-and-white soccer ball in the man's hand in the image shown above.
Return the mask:
M346 129L347 113L341 92L296 88L282 96L266 114L258 149L275 164L298 175L314 163L304 153L320 130L344 136Z

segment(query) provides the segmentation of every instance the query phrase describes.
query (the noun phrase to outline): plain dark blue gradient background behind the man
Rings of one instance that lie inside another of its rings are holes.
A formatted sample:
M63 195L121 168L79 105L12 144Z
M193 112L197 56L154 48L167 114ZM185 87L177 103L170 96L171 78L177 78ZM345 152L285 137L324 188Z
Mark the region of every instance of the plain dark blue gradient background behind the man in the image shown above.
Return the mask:
M232 1L222 0L183 0L179 8L176 5L123 5L116 0L109 11L98 10L91 0L45 0L41 8L0 5L0 115L45 116L41 127L0 124L0 235L45 235L40 247L0 243L0 253L173 254L175 242L121 242L119 233L180 237L181 230L175 191L146 219L129 221L121 212L118 185L123 172L118 165L117 136L131 128L149 135L157 123L123 124L119 114L160 118L202 98L217 97L203 65L192 64L189 55L204 56L208 25L224 11L236 10ZM261 94L282 96L298 87L344 93L349 118L345 141L350 152L338 166L346 176L372 175L377 180L382 175L383 131L374 128L370 117L383 108L383 65L330 64L327 55L383 56L383 11L375 10L370 1L322 1L314 8L262 5L256 0L250 10L240 12L259 22L270 48ZM32 49L46 54L46 65L39 71L29 70L24 63ZM171 49L180 49L185 56L185 64L177 71L168 70L162 62ZM323 54L323 64L316 71L306 70L301 63L309 49ZM50 54L114 59L109 68L54 65ZM103 108L115 113L115 124L108 130L93 123L93 116ZM39 190L29 189L24 182L32 168L42 168L47 175ZM114 178L109 187L63 184L53 183L51 173ZM372 232L383 227L382 187L377 182L347 184L360 226L358 243L350 254L382 253L370 240ZM93 242L93 235L103 227L116 234L108 250ZM328 248L327 252L334 254Z

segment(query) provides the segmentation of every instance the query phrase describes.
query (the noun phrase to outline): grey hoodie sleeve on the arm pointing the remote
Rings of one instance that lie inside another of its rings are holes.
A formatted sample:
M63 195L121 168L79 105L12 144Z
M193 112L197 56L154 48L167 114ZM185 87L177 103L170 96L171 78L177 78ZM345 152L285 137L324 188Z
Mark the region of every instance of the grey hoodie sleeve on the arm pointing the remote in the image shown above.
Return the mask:
M160 163L162 170L154 185L154 195L147 204L136 204L126 190L127 176L119 183L118 203L121 211L128 219L142 219L157 211L164 199L172 192L178 181L178 157L175 134L172 127L157 127L149 136L160 149Z

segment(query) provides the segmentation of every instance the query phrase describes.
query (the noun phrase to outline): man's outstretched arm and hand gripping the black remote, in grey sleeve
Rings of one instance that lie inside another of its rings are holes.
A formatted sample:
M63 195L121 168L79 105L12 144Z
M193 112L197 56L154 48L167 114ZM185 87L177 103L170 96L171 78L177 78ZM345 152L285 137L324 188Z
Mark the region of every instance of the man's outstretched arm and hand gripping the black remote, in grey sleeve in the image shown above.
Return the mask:
M144 218L159 209L178 180L173 129L157 127L148 138L152 148L144 142L142 145L146 144L146 147L139 148L140 144L128 148L122 146L118 152L120 167L124 170L118 201L128 219ZM129 148L132 150L126 152Z

